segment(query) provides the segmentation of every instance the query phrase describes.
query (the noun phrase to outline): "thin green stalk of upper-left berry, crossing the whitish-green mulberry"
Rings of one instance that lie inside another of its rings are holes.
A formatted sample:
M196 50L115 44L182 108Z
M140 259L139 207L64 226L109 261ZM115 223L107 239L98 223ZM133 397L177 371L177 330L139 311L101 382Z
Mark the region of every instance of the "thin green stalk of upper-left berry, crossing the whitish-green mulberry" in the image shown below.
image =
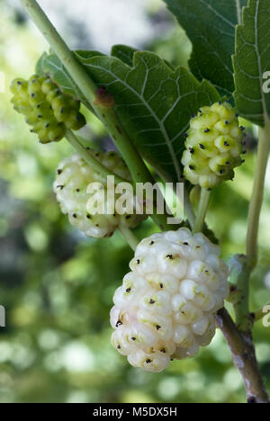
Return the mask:
M76 138L75 134L71 130L66 130L65 134L66 139L72 145L73 148L76 149L76 151L79 153L81 157L85 159L85 161L90 165L93 166L94 170L97 171L102 179L103 182L107 182L107 176L113 175L115 184L118 183L130 183L128 180L125 180L124 178L121 178L119 175L116 175L112 173L108 168L103 166L97 159L95 159L89 149L86 149L80 141Z

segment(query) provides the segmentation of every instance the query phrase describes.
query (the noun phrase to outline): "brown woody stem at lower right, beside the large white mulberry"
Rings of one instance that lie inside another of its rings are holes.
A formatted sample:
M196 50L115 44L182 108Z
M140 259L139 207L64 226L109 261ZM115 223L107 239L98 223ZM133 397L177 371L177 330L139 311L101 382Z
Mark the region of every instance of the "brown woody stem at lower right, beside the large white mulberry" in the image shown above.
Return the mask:
M247 390L248 403L269 403L266 387L258 368L251 334L243 334L233 323L226 309L218 312L217 325L229 345L229 350Z

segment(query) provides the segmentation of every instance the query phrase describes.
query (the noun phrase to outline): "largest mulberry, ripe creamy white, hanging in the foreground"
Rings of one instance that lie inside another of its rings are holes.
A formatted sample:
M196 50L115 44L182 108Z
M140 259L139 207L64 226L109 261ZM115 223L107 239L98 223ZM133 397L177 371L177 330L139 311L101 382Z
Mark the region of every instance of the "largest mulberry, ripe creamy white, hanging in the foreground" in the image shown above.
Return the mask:
M229 293L220 248L188 228L143 239L114 294L112 345L135 367L161 372L211 343Z

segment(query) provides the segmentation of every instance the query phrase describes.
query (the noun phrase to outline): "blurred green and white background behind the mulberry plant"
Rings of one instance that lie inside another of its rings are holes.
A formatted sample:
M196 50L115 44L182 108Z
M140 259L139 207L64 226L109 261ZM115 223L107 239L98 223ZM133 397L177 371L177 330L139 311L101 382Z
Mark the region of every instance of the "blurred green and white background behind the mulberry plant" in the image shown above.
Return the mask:
M126 43L186 66L191 45L161 0L40 0L73 49ZM160 374L134 369L110 345L113 291L128 271L131 252L121 236L85 238L61 215L52 193L65 141L40 145L14 112L8 86L34 73L48 49L19 2L0 0L0 402L244 402L245 392L220 332L192 360ZM81 132L93 145L108 142L87 114ZM234 183L216 189L209 225L229 261L245 250L256 130L249 128L246 164ZM270 300L270 169L260 232L259 267L251 306ZM148 221L139 228L151 232ZM257 355L270 388L270 327L255 327Z

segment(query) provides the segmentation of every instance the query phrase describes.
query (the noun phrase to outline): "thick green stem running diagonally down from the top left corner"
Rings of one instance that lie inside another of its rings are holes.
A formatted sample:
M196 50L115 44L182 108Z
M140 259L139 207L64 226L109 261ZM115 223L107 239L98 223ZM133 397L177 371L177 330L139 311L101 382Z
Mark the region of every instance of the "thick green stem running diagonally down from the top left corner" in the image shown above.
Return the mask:
M100 121L103 122L109 135L121 153L121 157L130 169L134 183L154 183L148 167L145 165L139 152L134 147L127 133L122 129L121 123L114 111L112 95L103 88L97 88L85 68L76 60L74 54L68 49L66 42L60 37L58 31L49 21L36 0L21 0L24 9L31 16L32 21L48 40L51 49L57 54L67 72L76 81L76 85L85 94L87 102L91 105ZM171 228L166 223L166 215L151 216L162 230Z

